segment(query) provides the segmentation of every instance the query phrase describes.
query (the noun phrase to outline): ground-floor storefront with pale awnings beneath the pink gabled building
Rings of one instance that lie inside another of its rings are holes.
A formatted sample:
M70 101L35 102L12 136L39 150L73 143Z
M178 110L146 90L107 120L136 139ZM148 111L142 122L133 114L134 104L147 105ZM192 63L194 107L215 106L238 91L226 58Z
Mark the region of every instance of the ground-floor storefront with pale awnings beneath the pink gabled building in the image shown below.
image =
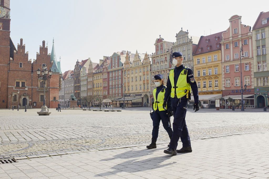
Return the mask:
M225 108L229 106L240 107L241 105L241 90L223 90L222 96L225 99ZM228 98L232 98L232 103L228 101ZM254 104L254 89L243 89L243 103L246 109L255 108Z

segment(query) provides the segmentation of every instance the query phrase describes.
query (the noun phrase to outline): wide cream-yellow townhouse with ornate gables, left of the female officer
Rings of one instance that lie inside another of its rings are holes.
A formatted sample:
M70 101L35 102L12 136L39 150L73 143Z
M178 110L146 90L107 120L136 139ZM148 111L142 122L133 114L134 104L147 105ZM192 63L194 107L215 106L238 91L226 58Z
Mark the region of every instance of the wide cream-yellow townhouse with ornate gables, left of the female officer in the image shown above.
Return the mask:
M124 92L128 107L148 107L150 96L150 57L148 54L126 53L124 62ZM122 99L120 99L122 100Z

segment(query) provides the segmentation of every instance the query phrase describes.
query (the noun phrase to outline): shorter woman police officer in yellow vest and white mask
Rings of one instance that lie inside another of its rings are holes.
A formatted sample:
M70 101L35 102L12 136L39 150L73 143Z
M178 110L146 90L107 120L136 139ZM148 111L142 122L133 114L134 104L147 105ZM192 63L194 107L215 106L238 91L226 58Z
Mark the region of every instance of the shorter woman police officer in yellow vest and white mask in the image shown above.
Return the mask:
M158 74L154 76L155 79L155 85L156 88L153 90L153 97L154 97L154 103L153 103L153 130L152 130L152 139L151 144L147 146L148 149L156 148L156 141L158 138L158 132L159 132L159 126L160 121L162 120L162 125L164 126L164 129L167 131L169 138L171 140L173 131L171 126L169 125L169 116L171 113L168 113L166 109L163 108L163 105L167 108L166 103L164 103L164 94L165 94L165 88L164 81L162 80L162 75ZM168 100L169 98L168 98ZM169 104L169 103L168 103ZM171 109L172 110L172 109Z

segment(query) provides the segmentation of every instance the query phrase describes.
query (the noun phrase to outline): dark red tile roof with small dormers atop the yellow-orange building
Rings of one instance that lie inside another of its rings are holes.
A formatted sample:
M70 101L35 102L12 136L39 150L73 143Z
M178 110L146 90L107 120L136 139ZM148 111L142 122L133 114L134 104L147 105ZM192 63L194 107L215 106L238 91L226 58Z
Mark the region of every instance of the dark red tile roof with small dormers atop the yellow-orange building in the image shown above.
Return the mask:
M214 52L216 50L221 50L221 45L219 48L217 48L217 43L221 42L223 32L226 32L226 31L218 32L216 34L211 34L211 35L207 35L207 36L201 36L200 40L198 42L198 45L196 47L196 50L194 52L194 55L199 55L199 54L203 54L203 53ZM216 41L216 37L218 37L217 41ZM206 39L208 40L208 43L206 43ZM209 50L207 50L208 46L210 47ZM199 49L201 49L200 52L199 52Z

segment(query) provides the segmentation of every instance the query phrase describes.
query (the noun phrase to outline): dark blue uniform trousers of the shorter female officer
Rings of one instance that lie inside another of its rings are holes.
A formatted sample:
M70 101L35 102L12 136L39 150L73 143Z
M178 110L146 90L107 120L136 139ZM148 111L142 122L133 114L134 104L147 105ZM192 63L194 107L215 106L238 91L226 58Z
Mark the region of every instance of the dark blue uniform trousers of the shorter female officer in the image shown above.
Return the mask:
M166 114L167 111L157 111L153 112L153 130L152 130L152 138L157 139L159 133L160 121L162 120L162 126L167 131L169 137L172 137L173 131L171 126L169 125L169 117Z

